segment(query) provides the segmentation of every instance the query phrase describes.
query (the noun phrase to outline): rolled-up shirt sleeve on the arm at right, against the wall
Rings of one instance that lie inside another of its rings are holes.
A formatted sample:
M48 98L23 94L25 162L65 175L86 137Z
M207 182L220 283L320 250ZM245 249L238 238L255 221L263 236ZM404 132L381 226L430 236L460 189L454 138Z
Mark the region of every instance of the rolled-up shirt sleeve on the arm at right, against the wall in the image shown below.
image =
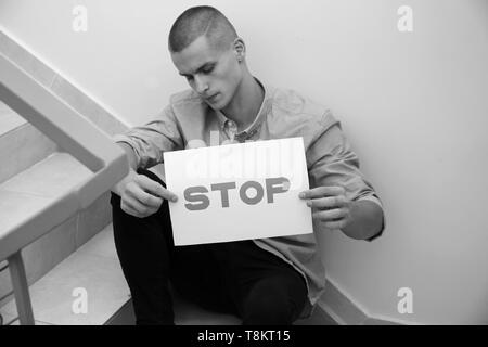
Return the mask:
M325 116L328 117L328 116ZM332 115L330 116L332 119ZM368 200L383 209L382 201L373 185L360 170L359 158L341 129L341 123L325 121L328 126L307 151L310 188L342 185L351 201ZM378 234L382 235L385 221Z

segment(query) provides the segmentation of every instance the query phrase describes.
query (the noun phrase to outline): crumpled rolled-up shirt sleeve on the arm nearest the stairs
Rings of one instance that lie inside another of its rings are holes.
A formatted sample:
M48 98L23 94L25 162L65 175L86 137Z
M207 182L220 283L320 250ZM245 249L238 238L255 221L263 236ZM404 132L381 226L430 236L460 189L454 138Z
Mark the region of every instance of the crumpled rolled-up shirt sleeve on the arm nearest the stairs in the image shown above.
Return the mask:
M117 143L132 147L138 168L151 168L163 163L163 153L183 149L183 140L171 106L155 120L113 137Z

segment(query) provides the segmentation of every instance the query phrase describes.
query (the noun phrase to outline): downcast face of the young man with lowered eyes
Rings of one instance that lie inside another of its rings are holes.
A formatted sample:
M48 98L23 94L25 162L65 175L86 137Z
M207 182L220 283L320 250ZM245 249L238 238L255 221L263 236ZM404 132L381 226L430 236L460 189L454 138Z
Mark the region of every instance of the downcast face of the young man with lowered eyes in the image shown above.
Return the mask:
M217 49L201 36L171 59L190 87L214 110L222 110L234 98L242 80L241 65L232 47Z

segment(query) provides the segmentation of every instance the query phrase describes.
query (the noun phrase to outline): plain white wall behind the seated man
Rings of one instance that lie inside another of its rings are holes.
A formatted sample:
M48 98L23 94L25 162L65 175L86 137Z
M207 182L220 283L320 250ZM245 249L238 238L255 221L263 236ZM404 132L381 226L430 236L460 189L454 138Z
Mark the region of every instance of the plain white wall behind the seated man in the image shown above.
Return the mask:
M187 88L166 51L195 1L0 0L0 25L129 125ZM374 243L323 235L328 275L370 314L488 323L488 2L220 0L256 76L330 105L385 204ZM72 9L88 8L75 34ZM397 9L414 31L397 30ZM413 290L413 314L397 291Z

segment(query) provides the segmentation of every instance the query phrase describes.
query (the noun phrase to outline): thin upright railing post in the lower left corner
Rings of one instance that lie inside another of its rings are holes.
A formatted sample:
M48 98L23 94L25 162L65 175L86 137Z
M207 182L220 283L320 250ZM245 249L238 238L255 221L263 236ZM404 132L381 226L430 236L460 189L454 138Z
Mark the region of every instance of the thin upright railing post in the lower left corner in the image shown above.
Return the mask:
M22 325L34 325L33 306L30 305L29 285L25 274L21 250L9 257L10 278L15 295L17 314Z

